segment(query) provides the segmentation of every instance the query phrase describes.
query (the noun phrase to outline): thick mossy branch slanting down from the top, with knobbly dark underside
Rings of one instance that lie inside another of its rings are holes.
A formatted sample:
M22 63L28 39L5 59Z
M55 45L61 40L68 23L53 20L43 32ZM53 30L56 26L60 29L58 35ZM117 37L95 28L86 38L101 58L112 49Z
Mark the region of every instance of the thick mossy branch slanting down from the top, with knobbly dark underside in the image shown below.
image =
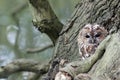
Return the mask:
M58 20L47 0L29 0L33 12L33 25L46 33L55 44L63 24Z

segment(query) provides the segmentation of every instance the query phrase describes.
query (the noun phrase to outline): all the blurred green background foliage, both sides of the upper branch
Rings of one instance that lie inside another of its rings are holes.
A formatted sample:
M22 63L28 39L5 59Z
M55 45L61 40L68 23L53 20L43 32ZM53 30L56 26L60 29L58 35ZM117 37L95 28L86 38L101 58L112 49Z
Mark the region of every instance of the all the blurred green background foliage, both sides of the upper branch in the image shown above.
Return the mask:
M49 1L58 18L66 23L79 0ZM0 65L6 65L18 58L47 62L52 57L54 48L33 54L27 54L26 50L41 48L48 44L52 44L49 37L32 25L32 14L27 0L0 0ZM10 77L8 80L16 78ZM19 76L17 80L23 78Z

